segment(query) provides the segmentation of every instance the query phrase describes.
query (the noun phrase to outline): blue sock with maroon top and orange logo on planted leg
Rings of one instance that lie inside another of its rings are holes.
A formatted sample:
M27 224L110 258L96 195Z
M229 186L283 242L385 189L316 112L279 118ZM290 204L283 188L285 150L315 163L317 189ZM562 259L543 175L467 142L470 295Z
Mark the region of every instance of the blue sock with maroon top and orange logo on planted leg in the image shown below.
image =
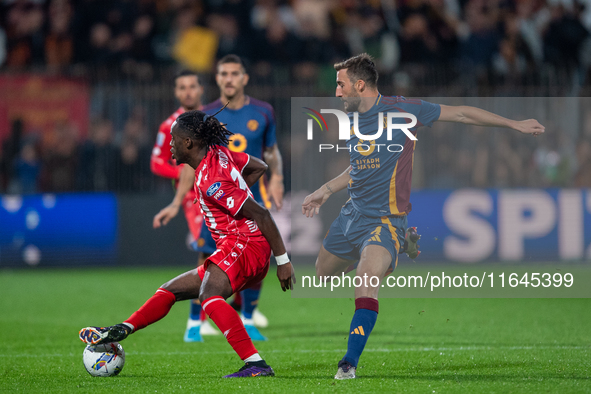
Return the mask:
M355 314L351 320L347 354L344 361L357 367L359 357L365 348L369 334L378 319L378 300L375 298L358 298L355 300Z

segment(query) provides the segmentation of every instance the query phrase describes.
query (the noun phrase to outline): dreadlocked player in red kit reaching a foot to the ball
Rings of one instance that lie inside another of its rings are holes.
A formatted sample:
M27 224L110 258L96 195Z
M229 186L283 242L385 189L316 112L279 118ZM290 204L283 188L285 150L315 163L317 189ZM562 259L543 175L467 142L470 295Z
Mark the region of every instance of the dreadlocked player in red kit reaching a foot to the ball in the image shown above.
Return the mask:
M238 313L224 299L265 277L271 250L277 259L277 277L283 291L292 289L295 277L271 214L254 201L247 186L254 184L267 166L245 153L225 148L229 135L215 117L201 111L180 115L171 128L173 158L188 164L182 170L175 200L194 185L216 241L215 253L204 265L162 285L123 323L80 330L83 342L121 341L163 318L176 301L199 297L205 312L245 362L238 372L226 377L274 375L252 344ZM178 206L170 204L157 219L168 222L177 213Z

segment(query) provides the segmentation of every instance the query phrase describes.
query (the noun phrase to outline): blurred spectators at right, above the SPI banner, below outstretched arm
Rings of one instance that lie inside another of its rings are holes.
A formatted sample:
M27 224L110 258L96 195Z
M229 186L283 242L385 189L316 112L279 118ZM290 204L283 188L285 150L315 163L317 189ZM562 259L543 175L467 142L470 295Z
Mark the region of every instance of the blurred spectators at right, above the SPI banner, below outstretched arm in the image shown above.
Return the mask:
M589 188L591 111L583 118L575 133L546 121L548 132L541 138L480 127L458 131L451 123L439 123L436 132L423 132L413 181L430 189Z

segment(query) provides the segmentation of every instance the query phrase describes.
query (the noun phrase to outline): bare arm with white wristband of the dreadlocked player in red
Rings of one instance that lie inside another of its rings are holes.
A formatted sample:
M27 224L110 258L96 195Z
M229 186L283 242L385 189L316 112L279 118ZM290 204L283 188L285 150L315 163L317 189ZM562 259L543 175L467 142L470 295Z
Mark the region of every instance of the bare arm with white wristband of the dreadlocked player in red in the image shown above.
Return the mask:
M273 250L273 254L277 259L277 278L279 278L281 289L283 291L287 289L293 290L293 284L296 281L293 266L287 257L285 244L269 210L257 204L251 197L248 197L242 205L240 213L256 222L261 233L263 233L263 236L269 242L269 245L271 245L271 250Z

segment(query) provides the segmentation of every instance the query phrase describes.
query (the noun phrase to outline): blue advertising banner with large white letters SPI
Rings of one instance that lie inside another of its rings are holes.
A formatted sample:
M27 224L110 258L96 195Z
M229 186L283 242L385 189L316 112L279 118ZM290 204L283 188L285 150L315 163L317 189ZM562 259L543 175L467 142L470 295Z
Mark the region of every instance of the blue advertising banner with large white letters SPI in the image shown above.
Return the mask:
M411 202L421 261L591 259L590 190L416 191Z

